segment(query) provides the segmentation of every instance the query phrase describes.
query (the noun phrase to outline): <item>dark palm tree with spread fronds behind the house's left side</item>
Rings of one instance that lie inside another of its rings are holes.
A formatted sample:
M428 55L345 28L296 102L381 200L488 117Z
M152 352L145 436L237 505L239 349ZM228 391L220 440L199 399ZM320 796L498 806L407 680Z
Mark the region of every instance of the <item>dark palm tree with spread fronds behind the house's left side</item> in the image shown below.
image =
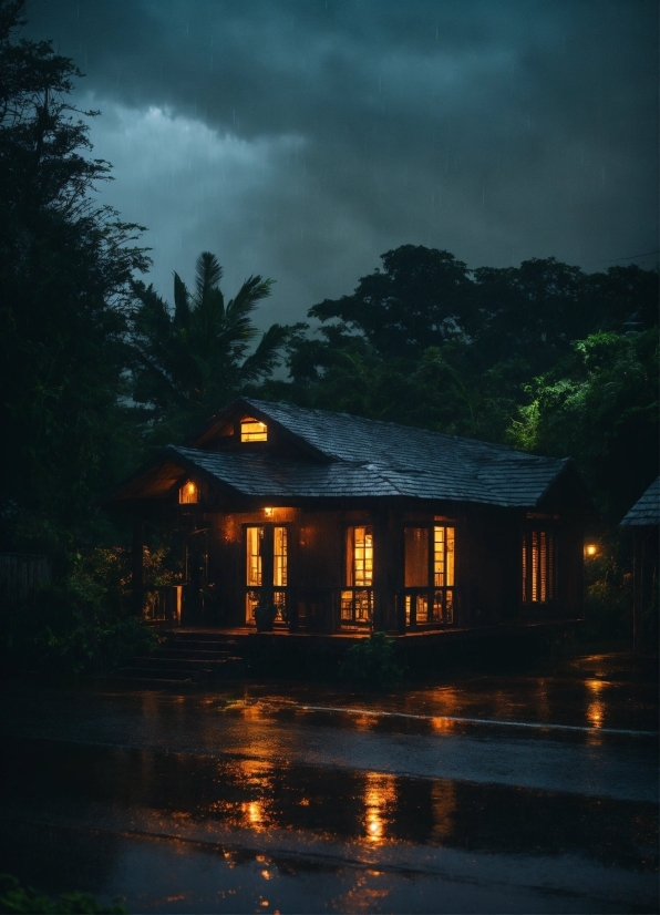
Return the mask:
M247 384L271 374L291 333L275 323L257 342L252 312L270 296L271 279L248 277L227 304L221 279L216 256L203 251L193 294L174 274L174 309L153 285L133 285L133 399L173 432L192 430Z

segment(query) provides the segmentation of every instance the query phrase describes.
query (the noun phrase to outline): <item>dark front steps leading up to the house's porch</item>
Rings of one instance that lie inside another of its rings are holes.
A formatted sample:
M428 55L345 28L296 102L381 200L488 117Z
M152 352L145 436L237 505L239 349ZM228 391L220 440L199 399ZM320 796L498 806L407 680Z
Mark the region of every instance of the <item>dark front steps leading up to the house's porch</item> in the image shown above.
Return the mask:
M243 677L238 639L221 633L171 630L148 657L131 658L115 675L135 686L181 687Z

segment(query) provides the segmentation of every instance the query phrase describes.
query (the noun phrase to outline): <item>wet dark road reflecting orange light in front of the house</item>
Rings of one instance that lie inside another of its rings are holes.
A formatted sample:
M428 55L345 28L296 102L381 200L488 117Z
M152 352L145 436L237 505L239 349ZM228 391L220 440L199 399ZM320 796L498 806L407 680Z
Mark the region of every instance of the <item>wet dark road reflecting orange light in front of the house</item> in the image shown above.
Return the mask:
M629 659L392 696L4 685L0 870L132 912L656 912Z

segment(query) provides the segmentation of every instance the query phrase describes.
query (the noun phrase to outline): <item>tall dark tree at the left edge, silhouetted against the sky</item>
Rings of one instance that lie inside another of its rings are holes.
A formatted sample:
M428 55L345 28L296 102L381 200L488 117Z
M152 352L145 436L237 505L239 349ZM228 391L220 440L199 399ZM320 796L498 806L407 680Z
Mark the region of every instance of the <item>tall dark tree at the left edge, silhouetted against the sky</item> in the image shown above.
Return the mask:
M69 58L18 38L23 6L0 0L0 538L43 548L127 460L130 281L148 258L92 201L110 172L89 156L95 112L68 100Z

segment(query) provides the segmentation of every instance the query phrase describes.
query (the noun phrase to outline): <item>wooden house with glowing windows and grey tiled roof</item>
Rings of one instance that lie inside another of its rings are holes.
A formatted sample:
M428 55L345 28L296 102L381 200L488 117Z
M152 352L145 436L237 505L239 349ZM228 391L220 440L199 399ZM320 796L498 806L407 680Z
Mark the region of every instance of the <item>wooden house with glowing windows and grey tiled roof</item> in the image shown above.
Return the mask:
M291 633L392 634L568 620L582 611L588 497L569 459L239 399L106 506L178 530L182 586L161 616Z

